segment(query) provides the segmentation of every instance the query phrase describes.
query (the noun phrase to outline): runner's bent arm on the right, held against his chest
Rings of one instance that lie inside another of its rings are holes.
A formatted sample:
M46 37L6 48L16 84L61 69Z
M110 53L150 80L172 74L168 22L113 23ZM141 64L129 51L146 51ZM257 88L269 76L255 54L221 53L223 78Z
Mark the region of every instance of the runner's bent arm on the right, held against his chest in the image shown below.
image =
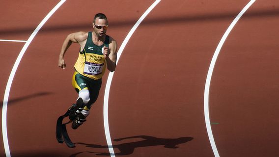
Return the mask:
M117 51L117 43L112 37L110 37L110 44L109 44L109 52L108 56L106 56L106 61L107 61L107 68L109 71L114 72L116 68L116 51Z

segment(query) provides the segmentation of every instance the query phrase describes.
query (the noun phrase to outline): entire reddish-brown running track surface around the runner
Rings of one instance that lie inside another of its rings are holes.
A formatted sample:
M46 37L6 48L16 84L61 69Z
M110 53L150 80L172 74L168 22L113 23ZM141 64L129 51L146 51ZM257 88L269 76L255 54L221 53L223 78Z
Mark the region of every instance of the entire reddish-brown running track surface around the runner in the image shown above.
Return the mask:
M0 39L28 40L58 2L2 2ZM30 43L10 88L11 157L110 156L103 119L108 73L86 124L69 129L76 148L56 142L56 119L76 100L71 77L79 47L67 52L65 70L57 67L58 53L68 33L91 30L97 12L108 16L107 33L120 47L153 2L67 0L58 8ZM122 52L110 87L116 157L216 157L204 118L206 77L223 34L249 2L161 0L147 15ZM256 0L227 36L214 66L209 115L220 157L279 156L278 10L278 0ZM1 104L24 45L0 41ZM0 148L5 157L3 142Z

